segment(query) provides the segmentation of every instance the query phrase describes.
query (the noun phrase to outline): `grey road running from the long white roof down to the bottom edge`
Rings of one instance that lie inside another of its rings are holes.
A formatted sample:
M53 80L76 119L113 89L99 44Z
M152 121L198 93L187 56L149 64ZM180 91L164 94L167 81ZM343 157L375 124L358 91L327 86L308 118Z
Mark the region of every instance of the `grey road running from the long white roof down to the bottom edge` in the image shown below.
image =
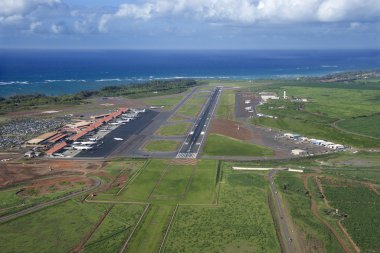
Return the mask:
M279 217L280 218L279 224L280 224L280 230L282 232L281 235L282 235L282 239L283 239L283 244L285 246L285 251L287 253L295 253L296 250L295 250L294 245L293 245L294 242L291 238L289 228L288 228L288 225L286 223L284 211L282 210L281 200L280 200L280 197L278 196L276 185L275 185L274 179L273 179L273 177L276 173L277 173L277 170L271 170L269 172L269 183L270 183L270 189L271 189L273 197L274 197L274 205L277 209L278 216L280 216Z

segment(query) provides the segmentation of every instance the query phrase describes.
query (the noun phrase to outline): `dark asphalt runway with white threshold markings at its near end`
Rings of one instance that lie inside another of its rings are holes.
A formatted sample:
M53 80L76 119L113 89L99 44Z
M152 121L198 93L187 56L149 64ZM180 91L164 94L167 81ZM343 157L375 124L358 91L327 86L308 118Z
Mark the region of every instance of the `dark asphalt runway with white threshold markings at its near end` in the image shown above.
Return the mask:
M200 117L195 122L190 134L181 146L177 158L197 158L203 144L206 131L211 122L219 95L220 88L215 88L206 105L203 107Z

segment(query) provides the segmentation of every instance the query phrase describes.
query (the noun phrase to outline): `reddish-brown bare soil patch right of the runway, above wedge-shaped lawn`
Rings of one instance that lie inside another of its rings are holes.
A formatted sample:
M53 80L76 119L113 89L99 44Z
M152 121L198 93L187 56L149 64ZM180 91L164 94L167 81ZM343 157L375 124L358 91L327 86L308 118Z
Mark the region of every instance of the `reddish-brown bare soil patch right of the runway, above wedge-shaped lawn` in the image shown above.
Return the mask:
M232 120L213 119L210 131L211 133L229 136L238 140L250 141L253 139L253 134L250 130Z

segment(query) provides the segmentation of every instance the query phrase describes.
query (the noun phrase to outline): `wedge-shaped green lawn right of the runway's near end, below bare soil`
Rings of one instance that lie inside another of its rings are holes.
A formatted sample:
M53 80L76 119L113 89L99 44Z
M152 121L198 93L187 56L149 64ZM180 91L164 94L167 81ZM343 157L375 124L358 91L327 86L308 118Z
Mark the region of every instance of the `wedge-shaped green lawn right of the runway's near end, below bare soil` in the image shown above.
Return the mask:
M273 151L223 135L210 134L204 154L211 156L270 156Z

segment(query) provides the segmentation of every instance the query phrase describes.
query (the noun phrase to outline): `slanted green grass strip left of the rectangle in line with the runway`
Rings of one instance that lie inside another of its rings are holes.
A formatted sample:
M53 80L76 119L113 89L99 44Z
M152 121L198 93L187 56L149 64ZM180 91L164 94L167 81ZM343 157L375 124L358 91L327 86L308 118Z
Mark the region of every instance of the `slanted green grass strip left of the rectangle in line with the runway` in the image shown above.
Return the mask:
M167 161L165 160L151 160L149 165L142 169L137 178L117 196L117 200L146 201L167 166Z

